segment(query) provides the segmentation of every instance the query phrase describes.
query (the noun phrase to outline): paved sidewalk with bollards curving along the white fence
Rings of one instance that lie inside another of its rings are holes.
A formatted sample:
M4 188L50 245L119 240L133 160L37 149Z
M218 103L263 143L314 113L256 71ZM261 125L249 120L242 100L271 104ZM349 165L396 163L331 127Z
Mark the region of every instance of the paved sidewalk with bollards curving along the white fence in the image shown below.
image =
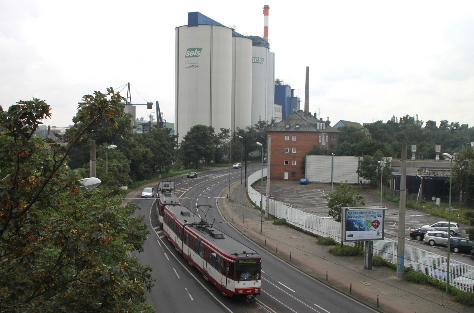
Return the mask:
M328 252L328 246L317 244L317 238L292 227L276 226L271 220L264 219L260 233L260 209L246 197L244 184L231 185L232 202L225 198L227 189L224 191L217 201L219 211L242 234L288 264L357 301L386 313L473 312L472 307L451 301L440 289L401 280L390 268L367 270L363 257L335 257ZM270 191L273 194L272 188Z

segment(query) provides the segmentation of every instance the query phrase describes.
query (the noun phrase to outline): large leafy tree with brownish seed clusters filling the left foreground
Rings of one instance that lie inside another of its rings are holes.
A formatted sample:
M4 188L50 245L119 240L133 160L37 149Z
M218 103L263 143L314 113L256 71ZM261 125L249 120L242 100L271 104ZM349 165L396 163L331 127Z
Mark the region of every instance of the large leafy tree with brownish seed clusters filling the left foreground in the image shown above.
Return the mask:
M143 250L143 217L102 187L79 188L64 163L91 125L115 125L123 97L110 88L82 98L83 127L55 134L64 143L33 136L51 116L44 101L0 107L0 312L153 310L151 269L125 253Z

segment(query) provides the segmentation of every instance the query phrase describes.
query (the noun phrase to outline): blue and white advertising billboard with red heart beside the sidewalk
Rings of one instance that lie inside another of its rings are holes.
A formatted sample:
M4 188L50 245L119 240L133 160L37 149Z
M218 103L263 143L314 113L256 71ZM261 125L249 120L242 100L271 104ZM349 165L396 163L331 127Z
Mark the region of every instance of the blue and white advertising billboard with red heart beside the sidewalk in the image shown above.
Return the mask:
M354 206L342 208L342 233L345 241L382 240L385 207Z

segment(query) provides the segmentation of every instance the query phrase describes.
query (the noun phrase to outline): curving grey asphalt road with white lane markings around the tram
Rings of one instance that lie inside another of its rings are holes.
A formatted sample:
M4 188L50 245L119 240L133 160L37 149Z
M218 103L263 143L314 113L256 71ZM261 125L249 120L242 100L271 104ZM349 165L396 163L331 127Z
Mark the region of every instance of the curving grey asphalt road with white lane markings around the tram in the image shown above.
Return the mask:
M260 163L251 165L248 172L260 169ZM172 244L166 240L156 221L153 202L155 199L135 199L145 215L150 236L143 253L133 252L142 264L152 266L152 276L157 279L147 301L154 304L156 312L374 312L337 291L320 284L301 271L288 266L280 259L255 246L234 227L226 223L216 208L219 193L228 188L228 168L199 173L198 178L186 177L173 180L182 205L211 205L212 213L207 220L215 219L214 228L232 236L262 257L262 294L255 303L246 304L223 296L217 288L204 280L201 274L184 262ZM231 169L231 182L240 180L240 169ZM242 184L242 188L244 185Z

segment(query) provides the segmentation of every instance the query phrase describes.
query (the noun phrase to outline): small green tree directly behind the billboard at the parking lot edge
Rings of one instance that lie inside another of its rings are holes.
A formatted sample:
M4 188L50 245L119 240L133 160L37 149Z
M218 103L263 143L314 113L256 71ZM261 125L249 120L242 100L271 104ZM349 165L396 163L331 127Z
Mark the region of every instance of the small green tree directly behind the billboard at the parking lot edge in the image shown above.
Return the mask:
M324 196L328 200L328 215L336 222L341 222L342 208L346 206L365 206L364 197L347 183L337 186L334 192Z

